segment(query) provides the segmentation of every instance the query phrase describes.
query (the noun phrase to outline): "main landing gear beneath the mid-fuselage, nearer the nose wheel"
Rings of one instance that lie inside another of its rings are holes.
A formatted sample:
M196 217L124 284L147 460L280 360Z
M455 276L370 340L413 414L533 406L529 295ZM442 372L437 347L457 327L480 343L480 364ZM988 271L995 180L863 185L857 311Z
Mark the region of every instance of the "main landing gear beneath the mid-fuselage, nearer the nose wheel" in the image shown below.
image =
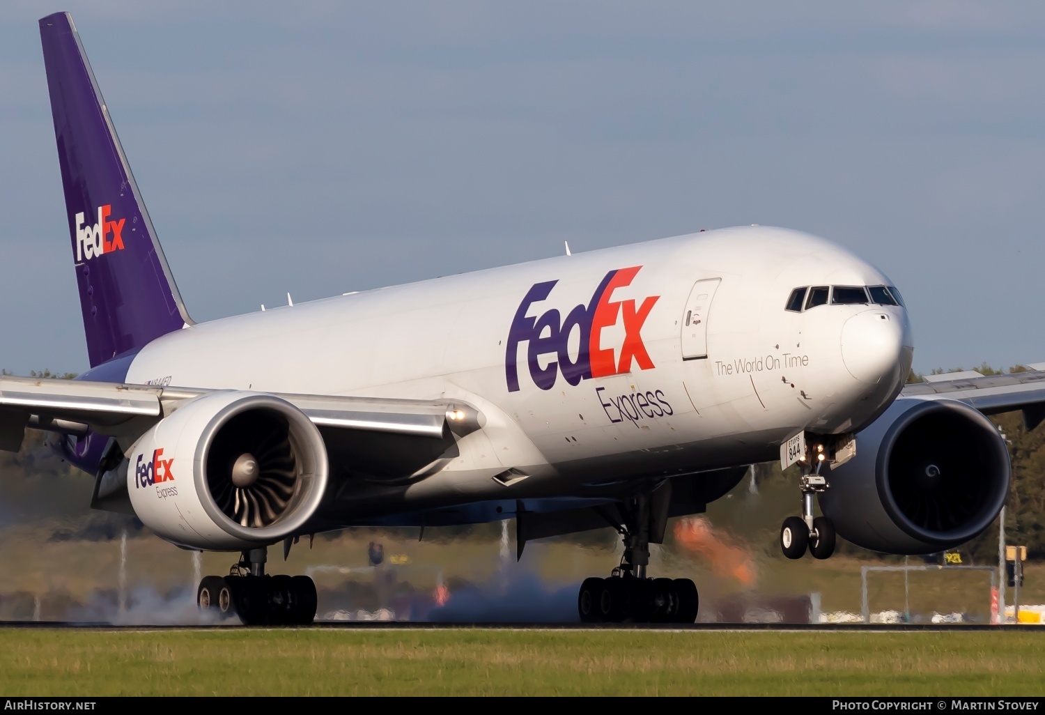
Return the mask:
M664 483L618 506L613 524L624 539L624 557L609 578L588 578L577 595L585 623L693 623L697 586L688 578L647 578L649 545L664 541L671 484Z

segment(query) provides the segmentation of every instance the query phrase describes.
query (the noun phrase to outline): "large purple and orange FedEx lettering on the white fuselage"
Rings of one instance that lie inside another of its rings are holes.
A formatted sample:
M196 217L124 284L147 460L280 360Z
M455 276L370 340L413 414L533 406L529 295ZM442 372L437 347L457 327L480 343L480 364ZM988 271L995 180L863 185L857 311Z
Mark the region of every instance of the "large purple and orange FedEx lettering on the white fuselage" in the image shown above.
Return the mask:
M634 300L612 300L613 291L630 285L642 266L610 271L599 283L591 301L587 305L577 305L562 319L557 308L550 308L539 317L528 316L530 306L545 300L559 281L550 280L535 283L519 303L508 331L508 348L505 356L505 377L508 391L519 389L518 346L528 343L527 364L530 376L541 390L551 390L561 371L571 385L582 379L604 377L622 372L630 372L632 364L642 370L653 367L653 361L646 352L641 335L643 323L660 296L649 296L642 304ZM624 321L624 342L619 352L612 347L602 346L602 330ZM580 350L577 360L571 360L567 343L574 330L580 333ZM540 367L542 356L554 355L555 360Z

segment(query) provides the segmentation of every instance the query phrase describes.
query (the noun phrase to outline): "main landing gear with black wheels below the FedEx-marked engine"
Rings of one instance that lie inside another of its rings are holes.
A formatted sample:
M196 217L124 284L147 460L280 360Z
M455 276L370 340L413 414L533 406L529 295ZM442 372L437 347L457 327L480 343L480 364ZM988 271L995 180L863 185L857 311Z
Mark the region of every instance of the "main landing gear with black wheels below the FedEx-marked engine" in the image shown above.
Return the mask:
M201 612L238 616L243 625L307 625L316 618L316 584L307 576L264 573L265 549L245 551L228 576L205 576L196 590Z

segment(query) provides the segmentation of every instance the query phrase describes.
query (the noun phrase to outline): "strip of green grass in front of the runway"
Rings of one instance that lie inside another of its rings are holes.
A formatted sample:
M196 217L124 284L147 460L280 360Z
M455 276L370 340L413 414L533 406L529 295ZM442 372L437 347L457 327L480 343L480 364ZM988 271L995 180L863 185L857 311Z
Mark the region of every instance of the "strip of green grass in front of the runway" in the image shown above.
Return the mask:
M1027 632L0 630L46 695L1042 695Z

